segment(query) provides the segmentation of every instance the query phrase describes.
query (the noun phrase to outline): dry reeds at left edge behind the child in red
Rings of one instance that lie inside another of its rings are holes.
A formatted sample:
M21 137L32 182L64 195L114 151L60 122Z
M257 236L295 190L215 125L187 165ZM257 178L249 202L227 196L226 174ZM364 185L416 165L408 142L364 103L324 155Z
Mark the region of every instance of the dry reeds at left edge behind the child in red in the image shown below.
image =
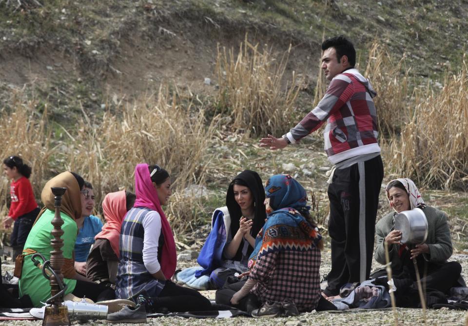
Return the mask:
M10 108L0 108L0 129L3 140L0 147L0 158L3 161L11 155L19 156L23 162L31 166L30 177L36 198L45 183L44 179L50 174L49 162L56 153L51 147L51 133L47 130L47 105L39 114L36 110L38 101L27 100L22 93L15 93L10 99ZM9 198L10 189L7 180L2 174L0 187L0 212L6 212L6 199Z

